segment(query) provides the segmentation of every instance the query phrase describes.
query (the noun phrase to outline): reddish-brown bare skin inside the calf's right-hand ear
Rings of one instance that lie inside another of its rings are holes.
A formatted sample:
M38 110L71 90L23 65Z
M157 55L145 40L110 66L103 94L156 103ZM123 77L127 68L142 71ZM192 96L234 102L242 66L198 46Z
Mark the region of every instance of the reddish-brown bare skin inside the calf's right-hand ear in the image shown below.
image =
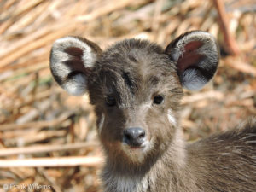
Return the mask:
M200 41L192 41L184 46L183 55L177 60L177 69L179 72L183 72L189 67L196 66L203 59L204 55L196 52L202 45Z

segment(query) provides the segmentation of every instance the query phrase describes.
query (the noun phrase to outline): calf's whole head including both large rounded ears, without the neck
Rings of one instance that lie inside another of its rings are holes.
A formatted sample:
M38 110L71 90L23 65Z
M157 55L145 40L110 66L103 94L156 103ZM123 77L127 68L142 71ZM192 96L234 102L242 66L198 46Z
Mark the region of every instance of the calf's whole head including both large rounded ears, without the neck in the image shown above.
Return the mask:
M55 42L50 67L67 92L88 91L108 158L142 164L176 136L183 87L198 90L218 67L218 47L207 32L189 32L166 49L138 39L102 51L84 38Z

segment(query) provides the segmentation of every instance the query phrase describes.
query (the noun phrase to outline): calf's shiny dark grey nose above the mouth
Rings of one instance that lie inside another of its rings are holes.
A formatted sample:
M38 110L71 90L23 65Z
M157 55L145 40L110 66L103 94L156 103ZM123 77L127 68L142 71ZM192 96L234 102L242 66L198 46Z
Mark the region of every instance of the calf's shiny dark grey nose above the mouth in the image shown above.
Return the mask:
M127 128L124 131L123 142L131 147L140 147L145 140L145 131L140 127Z

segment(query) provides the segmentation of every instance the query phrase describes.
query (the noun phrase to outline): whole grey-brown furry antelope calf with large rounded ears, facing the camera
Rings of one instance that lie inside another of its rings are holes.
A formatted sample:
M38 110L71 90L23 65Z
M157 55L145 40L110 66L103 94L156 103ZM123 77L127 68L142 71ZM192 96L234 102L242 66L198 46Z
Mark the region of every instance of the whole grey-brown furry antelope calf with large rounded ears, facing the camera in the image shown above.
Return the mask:
M106 153L106 192L256 191L256 120L199 142L183 142L183 87L200 90L218 68L207 32L166 49L128 39L102 51L85 38L55 41L50 69L72 95L88 91Z

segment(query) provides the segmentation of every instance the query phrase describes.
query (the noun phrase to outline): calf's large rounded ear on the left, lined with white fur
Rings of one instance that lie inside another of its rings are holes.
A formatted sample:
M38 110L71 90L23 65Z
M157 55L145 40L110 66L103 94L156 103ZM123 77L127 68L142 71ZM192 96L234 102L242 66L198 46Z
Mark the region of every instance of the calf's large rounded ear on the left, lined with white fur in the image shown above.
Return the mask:
M87 89L87 78L102 50L85 38L65 37L55 41L50 51L50 70L55 81L71 95Z

